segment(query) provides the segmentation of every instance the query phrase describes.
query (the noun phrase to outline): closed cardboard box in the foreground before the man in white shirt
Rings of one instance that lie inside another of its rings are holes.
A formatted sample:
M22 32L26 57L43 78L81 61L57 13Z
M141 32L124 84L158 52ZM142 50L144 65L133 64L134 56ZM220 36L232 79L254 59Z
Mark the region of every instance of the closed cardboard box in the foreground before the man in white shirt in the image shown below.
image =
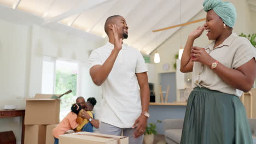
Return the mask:
M104 135L97 133L79 132L73 134L61 135L59 144L128 144L129 137L126 136L115 136L115 135Z

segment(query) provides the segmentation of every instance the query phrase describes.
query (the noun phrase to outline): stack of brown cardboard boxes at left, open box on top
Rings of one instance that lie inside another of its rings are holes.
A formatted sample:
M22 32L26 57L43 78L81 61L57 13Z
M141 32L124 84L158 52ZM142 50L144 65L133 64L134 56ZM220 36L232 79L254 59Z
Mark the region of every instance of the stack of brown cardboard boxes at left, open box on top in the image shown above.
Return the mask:
M53 144L53 128L60 122L60 99L36 94L26 100L25 144Z

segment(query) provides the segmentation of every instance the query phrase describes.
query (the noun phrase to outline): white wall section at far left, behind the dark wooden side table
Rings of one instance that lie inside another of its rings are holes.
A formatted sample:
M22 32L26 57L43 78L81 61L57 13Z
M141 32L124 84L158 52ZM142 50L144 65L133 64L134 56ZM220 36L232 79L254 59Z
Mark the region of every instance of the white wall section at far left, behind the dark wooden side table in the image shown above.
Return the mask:
M0 20L0 109L4 104L24 109L27 71L28 27ZM0 131L13 130L21 140L21 118L0 118ZM11 129L10 129L11 128Z

